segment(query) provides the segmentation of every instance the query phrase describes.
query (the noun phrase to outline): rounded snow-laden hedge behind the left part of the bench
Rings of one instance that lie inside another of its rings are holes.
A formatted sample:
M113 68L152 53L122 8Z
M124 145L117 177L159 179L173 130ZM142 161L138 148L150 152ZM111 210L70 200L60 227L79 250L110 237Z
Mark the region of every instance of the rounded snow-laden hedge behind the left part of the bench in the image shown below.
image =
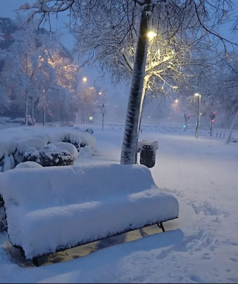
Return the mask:
M69 127L4 129L0 134L0 172L25 161L42 166L72 165L78 154L93 155L95 145L94 136Z

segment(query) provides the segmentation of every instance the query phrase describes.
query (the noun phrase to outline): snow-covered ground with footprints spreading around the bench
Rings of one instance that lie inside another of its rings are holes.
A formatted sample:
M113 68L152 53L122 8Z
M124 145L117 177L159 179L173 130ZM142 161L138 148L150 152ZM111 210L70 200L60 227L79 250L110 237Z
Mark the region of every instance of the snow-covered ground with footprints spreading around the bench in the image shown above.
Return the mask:
M90 127L95 156L75 164L119 163L123 131ZM151 226L41 257L37 268L0 234L0 283L238 282L238 143L157 132L140 138L158 140L152 175L178 199L179 219L165 222L165 233Z

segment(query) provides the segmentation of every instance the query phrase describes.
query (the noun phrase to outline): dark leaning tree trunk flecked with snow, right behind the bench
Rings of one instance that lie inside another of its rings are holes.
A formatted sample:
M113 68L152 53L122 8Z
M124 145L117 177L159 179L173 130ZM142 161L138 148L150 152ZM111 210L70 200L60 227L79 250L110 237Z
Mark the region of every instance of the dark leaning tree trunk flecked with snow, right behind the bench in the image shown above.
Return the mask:
M141 12L139 35L134 58L134 67L126 114L126 124L121 149L121 165L130 165L135 163L139 113L148 49L147 33L152 18L150 13L152 10L152 5L150 5L150 1L146 1L146 4L147 5L144 6Z

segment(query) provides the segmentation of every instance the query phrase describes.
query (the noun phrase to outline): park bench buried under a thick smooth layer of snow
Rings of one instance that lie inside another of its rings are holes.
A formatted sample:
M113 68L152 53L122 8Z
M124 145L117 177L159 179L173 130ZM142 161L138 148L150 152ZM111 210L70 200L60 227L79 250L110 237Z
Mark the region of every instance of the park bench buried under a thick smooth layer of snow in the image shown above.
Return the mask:
M26 259L178 218L143 165L53 166L0 174L8 235Z

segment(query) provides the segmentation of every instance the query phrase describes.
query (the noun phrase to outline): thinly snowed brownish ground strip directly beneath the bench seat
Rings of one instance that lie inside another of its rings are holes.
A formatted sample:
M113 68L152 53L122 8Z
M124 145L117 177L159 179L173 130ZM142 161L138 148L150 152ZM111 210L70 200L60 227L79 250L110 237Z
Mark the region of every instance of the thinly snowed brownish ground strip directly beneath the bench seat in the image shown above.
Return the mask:
M174 230L174 220L167 221L164 224L165 231ZM148 227L144 227L138 230L130 231L127 233L123 233L117 236L112 236L107 239L102 239L99 241L95 241L92 243L88 243L85 245L81 245L78 247L73 247L70 249L66 249L60 252L52 253L45 256L38 257L39 265L49 265L54 263L59 263L63 261L68 261L72 259L76 259L82 256L89 255L92 252L99 251L106 247L111 247L114 245L128 243L130 241L134 241L137 239L146 238L150 235L162 233L162 230L158 228L157 225L152 225ZM22 254L21 250L15 248L11 245L10 242L5 244L5 249L11 260L21 267L33 267L32 260L25 260L24 255Z

